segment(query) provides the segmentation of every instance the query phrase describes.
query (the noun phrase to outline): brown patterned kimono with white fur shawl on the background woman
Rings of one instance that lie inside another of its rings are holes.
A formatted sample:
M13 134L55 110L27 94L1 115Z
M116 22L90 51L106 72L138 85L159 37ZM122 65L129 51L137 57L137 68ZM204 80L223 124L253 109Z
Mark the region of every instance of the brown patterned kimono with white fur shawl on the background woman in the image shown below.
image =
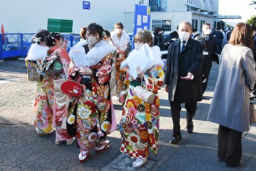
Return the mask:
M130 36L125 31L122 31L121 38L117 37L117 33L115 31L111 32L111 38L113 40L113 47L117 51L123 51L122 54L117 54L113 56L113 61L115 62L115 76L116 79L116 95L119 97L120 92L123 89L123 81L125 78L126 71L120 69L121 62L128 56L131 52L131 46L129 44ZM112 91L115 92L115 91ZM114 95L114 94L113 94Z

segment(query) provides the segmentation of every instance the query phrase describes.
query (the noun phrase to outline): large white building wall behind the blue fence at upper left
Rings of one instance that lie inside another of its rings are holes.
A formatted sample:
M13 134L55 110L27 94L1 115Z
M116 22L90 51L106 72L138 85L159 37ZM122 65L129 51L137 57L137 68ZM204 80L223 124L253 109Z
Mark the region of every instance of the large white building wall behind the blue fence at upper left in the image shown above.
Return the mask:
M48 18L55 18L73 20L73 33L93 22L113 29L116 22L124 22L123 12L134 12L135 4L139 4L139 0L83 1L91 2L91 10L82 9L82 0L0 1L0 25L8 33L34 33L47 29Z

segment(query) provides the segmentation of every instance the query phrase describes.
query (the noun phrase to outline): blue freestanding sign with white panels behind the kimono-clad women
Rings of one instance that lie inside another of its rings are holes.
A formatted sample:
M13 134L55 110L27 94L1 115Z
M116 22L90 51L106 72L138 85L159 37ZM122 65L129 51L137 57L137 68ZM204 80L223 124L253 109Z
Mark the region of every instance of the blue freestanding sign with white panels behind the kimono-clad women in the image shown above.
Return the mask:
M142 30L150 30L150 7L135 4L133 37Z

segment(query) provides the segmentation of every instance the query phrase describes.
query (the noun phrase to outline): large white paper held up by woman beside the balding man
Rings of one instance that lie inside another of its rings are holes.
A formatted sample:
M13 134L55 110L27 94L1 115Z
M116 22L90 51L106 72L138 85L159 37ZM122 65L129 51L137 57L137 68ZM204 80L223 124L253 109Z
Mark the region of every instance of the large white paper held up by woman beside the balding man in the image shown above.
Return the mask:
M144 44L136 53L132 53L133 56L127 58L127 64L129 66L129 73L136 79L137 67L139 66L142 72L145 72L147 66L154 60L152 51L147 44Z

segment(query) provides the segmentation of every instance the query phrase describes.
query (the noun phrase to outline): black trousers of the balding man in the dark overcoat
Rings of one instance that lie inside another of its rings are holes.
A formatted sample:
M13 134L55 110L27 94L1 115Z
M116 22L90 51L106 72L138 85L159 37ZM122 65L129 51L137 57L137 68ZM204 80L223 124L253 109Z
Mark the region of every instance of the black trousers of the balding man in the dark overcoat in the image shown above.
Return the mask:
M172 114L174 133L173 137L181 135L180 133L180 102L170 101L170 111ZM195 113L197 111L197 102L185 103L185 109L187 113Z

